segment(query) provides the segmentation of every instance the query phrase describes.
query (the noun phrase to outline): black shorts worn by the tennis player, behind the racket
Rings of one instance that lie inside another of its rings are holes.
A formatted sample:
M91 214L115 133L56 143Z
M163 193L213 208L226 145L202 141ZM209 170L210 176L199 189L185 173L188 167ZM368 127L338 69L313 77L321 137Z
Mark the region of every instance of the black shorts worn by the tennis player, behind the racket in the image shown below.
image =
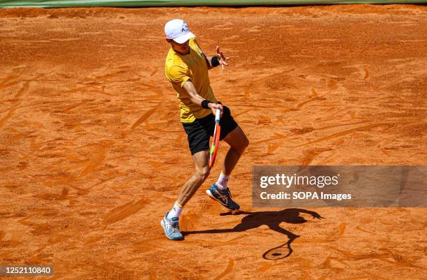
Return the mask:
M209 138L213 136L213 130L215 129L215 117L213 114L190 123L183 122L181 124L187 133L191 155L201 151L209 151ZM227 106L223 106L223 117L220 118L220 126L220 140L223 140L228 133L237 128L237 122L234 121Z

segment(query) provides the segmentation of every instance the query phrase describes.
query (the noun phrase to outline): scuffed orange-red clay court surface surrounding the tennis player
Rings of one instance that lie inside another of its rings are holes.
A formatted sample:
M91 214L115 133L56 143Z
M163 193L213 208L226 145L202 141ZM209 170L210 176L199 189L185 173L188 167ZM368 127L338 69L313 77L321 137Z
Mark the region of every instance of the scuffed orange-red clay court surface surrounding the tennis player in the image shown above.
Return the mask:
M223 143L182 242L160 227L193 172L164 75L175 17L232 57L211 84L250 140L230 188L252 214L204 194ZM50 279L426 279L425 208L253 208L250 181L256 164L425 165L426 42L427 6L0 10L0 264L53 265ZM293 235L289 257L262 257Z

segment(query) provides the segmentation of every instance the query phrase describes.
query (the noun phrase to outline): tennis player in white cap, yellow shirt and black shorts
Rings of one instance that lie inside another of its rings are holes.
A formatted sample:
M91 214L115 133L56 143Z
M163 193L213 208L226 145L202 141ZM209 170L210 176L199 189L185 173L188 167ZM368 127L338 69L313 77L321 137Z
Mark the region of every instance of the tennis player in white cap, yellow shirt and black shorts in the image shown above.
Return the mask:
M213 136L216 109L221 111L220 140L230 145L225 156L223 170L206 192L213 200L230 210L239 209L232 200L228 180L249 141L244 131L234 121L230 109L218 102L213 95L208 70L217 66L227 66L219 47L216 55L205 55L183 20L170 20L165 24L165 35L170 50L165 61L165 74L179 99L180 120L188 136L188 145L195 164L195 172L183 184L181 193L170 212L166 212L161 225L170 240L182 240L179 231L179 214L188 200L209 176L209 138Z

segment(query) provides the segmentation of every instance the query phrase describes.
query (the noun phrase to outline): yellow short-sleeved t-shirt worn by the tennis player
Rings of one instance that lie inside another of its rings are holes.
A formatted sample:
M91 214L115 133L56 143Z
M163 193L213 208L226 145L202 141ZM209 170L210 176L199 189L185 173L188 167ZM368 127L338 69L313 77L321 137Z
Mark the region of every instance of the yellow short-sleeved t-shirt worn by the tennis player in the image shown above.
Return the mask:
M171 47L165 61L166 78L177 91L177 98L180 101L179 119L185 123L206 117L212 112L211 109L201 108L190 101L186 90L183 89L183 84L188 80L193 82L197 94L213 103L217 102L209 82L208 68L202 50L195 38L190 38L188 45L190 47L188 54L179 54Z

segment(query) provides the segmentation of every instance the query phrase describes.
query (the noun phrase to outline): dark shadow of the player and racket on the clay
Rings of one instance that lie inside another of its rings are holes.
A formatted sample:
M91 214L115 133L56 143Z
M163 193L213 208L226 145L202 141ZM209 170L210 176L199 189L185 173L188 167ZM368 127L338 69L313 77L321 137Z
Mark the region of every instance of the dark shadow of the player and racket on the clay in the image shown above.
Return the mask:
M288 208L280 211L260 211L260 212L240 212L241 215L246 215L241 219L241 223L234 228L225 228L219 230L193 230L183 232L183 235L193 235L201 233L239 233L242 231L258 228L260 226L268 226L271 230L286 235L288 240L280 246L276 246L262 254L262 257L267 260L279 260L286 258L292 253L291 243L299 237L280 227L280 223L306 223L304 217L299 216L301 213L310 214L313 219L323 219L320 214L306 209ZM221 216L230 215L231 213L223 213Z

